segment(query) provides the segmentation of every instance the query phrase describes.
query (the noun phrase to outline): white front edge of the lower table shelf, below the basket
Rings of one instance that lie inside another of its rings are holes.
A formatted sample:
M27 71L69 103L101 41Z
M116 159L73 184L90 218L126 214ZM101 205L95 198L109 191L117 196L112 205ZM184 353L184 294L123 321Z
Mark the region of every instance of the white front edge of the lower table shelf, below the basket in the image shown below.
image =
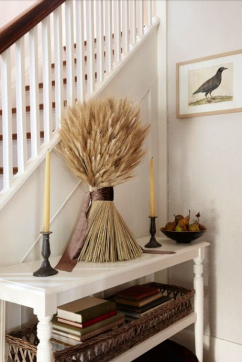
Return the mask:
M112 362L130 362L133 361L135 358L143 355L146 351L150 350L151 348L157 346L167 338L170 338L174 334L180 332L182 329L190 326L191 324L195 323L197 320L196 313L191 313L189 316L184 317L180 321L174 323L172 326L169 326L160 332L156 333L152 337L146 339L142 343L138 344L130 348L128 351L122 353L120 356L114 358Z

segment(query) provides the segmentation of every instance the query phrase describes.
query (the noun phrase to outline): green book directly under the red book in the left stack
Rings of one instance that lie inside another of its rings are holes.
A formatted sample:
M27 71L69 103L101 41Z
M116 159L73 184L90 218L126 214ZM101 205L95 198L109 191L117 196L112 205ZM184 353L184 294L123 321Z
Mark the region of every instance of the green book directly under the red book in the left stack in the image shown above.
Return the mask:
M117 322L123 318L124 318L124 314L122 312L117 312L117 314L115 316L112 316L103 321L94 323L93 325L85 327L85 328L64 325L63 323L57 322L55 316L52 319L52 323L53 323L54 330L60 330L62 332L66 332L66 333L73 334L76 336L84 336L87 333L93 332L94 330L100 329L104 326L111 325L114 322Z

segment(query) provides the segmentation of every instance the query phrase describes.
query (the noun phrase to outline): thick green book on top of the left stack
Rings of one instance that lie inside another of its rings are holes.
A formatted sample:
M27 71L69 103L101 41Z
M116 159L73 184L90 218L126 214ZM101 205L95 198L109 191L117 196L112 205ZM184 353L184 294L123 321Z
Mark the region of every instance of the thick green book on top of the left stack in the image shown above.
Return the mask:
M57 308L57 316L68 321L84 323L116 310L116 303L92 296L63 304Z

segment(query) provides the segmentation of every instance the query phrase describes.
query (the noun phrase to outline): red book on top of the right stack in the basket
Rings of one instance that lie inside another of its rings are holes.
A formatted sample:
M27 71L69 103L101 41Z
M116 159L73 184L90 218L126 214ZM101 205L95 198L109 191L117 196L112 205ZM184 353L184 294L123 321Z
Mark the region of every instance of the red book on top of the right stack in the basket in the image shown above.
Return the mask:
M135 285L133 287L120 290L116 295L124 299L141 300L158 293L160 293L159 288L148 287L145 285Z

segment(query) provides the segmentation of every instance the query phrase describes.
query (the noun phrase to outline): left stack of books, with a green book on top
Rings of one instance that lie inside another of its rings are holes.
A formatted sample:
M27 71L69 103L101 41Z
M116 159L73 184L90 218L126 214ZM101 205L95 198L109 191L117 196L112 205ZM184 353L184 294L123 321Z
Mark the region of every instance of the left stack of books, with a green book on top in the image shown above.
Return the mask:
M55 340L75 345L121 325L124 314L114 301L85 297L58 307L52 323Z

